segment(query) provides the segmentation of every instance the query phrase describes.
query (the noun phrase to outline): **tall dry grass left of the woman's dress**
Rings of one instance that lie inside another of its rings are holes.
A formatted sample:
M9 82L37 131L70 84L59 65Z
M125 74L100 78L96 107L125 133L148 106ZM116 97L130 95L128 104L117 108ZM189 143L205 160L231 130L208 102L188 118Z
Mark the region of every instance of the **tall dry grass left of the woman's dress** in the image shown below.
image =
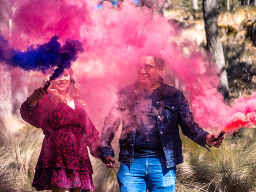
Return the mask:
M6 129L0 129L0 132L0 191L33 192L31 184L42 131L25 128L16 134Z

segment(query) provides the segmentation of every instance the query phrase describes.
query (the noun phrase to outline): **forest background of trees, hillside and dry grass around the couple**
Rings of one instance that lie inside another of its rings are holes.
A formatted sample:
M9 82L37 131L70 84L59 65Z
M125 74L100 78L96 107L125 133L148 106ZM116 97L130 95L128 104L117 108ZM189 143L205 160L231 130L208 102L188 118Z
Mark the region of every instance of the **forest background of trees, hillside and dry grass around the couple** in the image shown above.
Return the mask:
M256 0L142 1L138 6L160 12L171 23L182 28L184 35L189 34L201 50L212 54L222 71L220 92L226 100L231 101L232 98L255 91ZM210 16L207 14L209 10L212 13ZM218 31L216 36L212 35L214 30ZM4 66L0 67L2 84L22 82L22 76L18 80L12 76L18 70L8 71L4 70ZM3 73L10 75L6 78ZM34 76L30 81L39 81L40 78ZM33 89L28 86L27 90L20 92L28 96ZM20 92L17 94L17 90L12 89L0 92L0 190L4 192L34 191L31 184L43 139L42 130L20 119L19 108L23 102L21 98L24 98ZM225 138L222 146L211 153L182 136L184 163L177 168L176 191L256 191L255 136L254 128L242 128ZM118 143L118 137L114 138L113 143ZM118 154L118 148L115 148L115 154ZM96 189L99 192L118 191L118 163L116 168L107 169L99 159L90 158ZM118 156L115 158L117 162Z

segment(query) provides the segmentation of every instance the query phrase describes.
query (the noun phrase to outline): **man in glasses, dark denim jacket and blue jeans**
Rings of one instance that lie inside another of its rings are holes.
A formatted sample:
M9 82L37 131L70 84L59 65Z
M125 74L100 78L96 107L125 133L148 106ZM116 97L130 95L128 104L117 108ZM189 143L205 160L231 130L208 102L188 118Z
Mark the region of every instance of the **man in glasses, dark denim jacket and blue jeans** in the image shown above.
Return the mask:
M114 167L111 141L120 122L120 192L174 192L176 165L183 162L178 124L184 135L206 148L219 147L223 137L209 134L194 122L183 93L164 84L164 60L142 56L136 66L138 80L121 89L117 106L105 118L101 134L101 160ZM208 149L208 148L207 148Z

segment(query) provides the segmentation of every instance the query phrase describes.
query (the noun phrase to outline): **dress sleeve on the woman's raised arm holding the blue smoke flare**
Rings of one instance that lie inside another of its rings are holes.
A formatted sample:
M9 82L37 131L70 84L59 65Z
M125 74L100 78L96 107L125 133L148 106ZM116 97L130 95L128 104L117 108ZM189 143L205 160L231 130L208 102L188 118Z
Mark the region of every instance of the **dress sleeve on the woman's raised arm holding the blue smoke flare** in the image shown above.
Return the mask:
M36 128L42 128L44 126L44 121L42 117L46 112L46 97L41 100L41 102L37 102L36 106L30 106L28 104L28 98L24 101L20 107L20 115L22 119L28 122L30 125Z

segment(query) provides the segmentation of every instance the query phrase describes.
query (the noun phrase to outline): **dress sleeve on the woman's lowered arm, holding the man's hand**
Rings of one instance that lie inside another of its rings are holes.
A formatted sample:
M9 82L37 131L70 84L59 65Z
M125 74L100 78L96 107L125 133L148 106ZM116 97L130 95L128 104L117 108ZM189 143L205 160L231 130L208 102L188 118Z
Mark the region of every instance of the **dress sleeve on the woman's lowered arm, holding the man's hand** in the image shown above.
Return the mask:
M99 132L95 128L94 124L92 123L92 120L90 120L88 114L85 112L84 117L84 123L83 123L83 133L86 137L86 144L90 149L90 153L95 158L98 158L100 156L100 138L99 138Z

